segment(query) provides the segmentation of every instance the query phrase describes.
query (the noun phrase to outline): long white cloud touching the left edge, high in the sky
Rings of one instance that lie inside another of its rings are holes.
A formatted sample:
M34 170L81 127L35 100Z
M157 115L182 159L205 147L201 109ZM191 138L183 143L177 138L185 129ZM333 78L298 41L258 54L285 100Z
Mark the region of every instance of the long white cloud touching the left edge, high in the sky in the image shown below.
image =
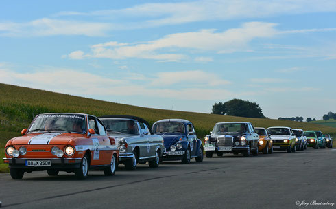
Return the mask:
M105 36L110 23L42 18L25 23L0 22L0 36Z

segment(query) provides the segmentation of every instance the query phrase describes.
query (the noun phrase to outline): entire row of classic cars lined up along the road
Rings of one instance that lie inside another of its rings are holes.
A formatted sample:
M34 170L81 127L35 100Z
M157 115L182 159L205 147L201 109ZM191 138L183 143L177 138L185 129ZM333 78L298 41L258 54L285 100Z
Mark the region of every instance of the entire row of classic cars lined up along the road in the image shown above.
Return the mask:
M250 122L219 122L211 135L202 141L188 120L165 119L150 128L143 118L128 115L95 117L83 113L45 113L37 115L23 136L5 145L5 158L13 179L24 173L47 170L48 175L60 171L75 173L86 179L88 170L102 170L114 175L118 164L136 170L137 164L156 168L160 162L179 160L189 164L212 157L214 153L239 154L245 157L268 154L273 150L294 152L307 146L333 146L330 136L320 131L303 132L289 127L254 128ZM306 137L307 135L307 137ZM321 136L322 135L322 136Z

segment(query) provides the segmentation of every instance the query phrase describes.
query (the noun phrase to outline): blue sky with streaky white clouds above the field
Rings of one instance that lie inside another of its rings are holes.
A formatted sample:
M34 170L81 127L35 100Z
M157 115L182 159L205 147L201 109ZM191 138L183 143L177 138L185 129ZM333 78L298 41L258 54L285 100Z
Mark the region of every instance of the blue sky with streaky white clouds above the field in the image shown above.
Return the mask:
M269 118L335 109L336 1L1 1L0 83Z

